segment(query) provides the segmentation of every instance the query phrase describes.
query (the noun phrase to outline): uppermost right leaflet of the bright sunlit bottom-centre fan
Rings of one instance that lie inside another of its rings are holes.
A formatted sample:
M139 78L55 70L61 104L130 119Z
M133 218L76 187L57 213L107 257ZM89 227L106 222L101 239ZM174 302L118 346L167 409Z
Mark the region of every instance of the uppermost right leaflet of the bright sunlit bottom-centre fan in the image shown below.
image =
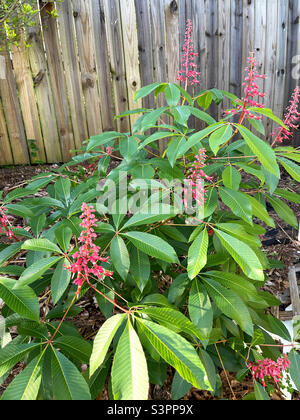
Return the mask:
M182 331L190 336L203 340L202 331L181 312L171 308L144 308L142 313L149 315L160 324L171 328L174 326L178 331Z

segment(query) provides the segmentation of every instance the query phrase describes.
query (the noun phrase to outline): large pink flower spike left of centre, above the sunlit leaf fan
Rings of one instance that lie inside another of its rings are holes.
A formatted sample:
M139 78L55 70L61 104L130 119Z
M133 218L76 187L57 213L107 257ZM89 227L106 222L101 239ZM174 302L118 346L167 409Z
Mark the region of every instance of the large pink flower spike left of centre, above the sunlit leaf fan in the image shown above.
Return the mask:
M88 206L86 203L81 208L82 223L80 224L84 230L81 232L79 242L83 245L79 248L78 252L73 254L74 263L66 269L70 270L73 275L77 275L74 284L78 286L77 296L81 292L82 285L88 280L92 274L100 280L105 276L112 276L111 271L105 270L99 262L107 262L108 258L102 258L99 255L100 248L94 244L94 239L97 237L94 227L97 226L97 219L95 218L95 209L93 206Z

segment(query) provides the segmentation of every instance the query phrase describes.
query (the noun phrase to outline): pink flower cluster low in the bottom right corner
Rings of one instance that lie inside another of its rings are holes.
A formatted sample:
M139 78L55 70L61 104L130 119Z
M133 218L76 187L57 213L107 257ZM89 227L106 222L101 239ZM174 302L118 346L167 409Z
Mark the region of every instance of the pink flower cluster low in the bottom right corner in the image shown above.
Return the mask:
M275 383L282 380L282 374L290 367L290 361L287 354L279 357L277 361L271 359L258 360L257 362L249 362L248 367L251 369L253 379L260 379L263 386L266 387L266 378L271 377Z

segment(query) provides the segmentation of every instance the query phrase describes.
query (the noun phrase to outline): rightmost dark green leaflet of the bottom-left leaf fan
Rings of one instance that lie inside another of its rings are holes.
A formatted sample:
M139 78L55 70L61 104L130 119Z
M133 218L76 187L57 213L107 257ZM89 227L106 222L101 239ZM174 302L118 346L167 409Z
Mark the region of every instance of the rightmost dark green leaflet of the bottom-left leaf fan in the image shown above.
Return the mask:
M51 371L56 401L89 401L90 390L77 367L52 348Z

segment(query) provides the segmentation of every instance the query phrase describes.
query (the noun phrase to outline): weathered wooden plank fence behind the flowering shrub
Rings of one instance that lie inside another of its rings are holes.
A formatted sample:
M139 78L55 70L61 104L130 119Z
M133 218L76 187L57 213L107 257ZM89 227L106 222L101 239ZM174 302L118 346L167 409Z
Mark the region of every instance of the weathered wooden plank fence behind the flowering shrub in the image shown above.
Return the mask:
M300 79L300 0L41 1L24 43L0 51L0 164L63 162L82 141L129 131L134 93L176 82L185 23L194 25L201 89L241 95L249 52L279 115ZM59 17L49 16L55 7ZM154 106L146 99L145 106ZM220 111L213 110L220 114ZM196 125L196 128L197 125ZM272 130L267 127L267 134ZM299 138L298 138L299 143Z

